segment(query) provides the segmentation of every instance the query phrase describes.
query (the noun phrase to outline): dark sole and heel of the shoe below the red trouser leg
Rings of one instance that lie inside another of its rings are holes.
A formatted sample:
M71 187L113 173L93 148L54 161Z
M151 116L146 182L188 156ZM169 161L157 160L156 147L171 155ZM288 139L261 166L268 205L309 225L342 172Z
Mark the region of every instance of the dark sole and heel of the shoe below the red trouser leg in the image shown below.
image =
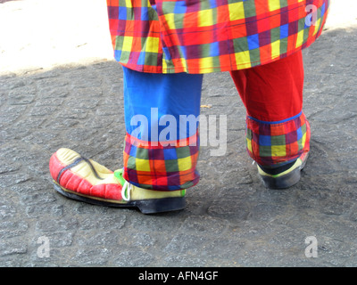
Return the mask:
M286 175L282 175L280 177L271 177L267 175L260 175L262 178L262 182L264 186L270 189L286 189L294 186L296 183L300 181L301 171L303 167L305 167L307 161L306 158L303 160L303 163L300 167L296 167L293 171L289 172Z

